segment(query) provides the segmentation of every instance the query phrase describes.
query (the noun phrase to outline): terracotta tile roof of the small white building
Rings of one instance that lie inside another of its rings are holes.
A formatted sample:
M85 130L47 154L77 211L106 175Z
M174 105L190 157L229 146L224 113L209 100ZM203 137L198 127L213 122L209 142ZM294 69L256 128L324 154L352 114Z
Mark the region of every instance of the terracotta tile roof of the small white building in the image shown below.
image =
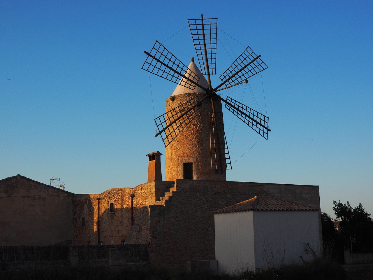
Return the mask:
M317 208L278 197L255 196L237 204L214 211L214 214L243 211L317 211Z

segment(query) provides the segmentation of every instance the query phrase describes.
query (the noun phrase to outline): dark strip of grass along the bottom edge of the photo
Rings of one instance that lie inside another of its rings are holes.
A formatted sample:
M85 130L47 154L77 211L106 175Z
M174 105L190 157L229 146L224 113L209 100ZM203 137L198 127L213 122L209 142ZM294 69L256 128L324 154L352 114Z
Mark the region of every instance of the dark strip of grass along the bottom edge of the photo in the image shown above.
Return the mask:
M367 273L372 273L368 271ZM372 276L372 274L370 274ZM347 278L347 276L349 276ZM283 265L273 269L248 270L240 276L214 275L211 273L191 274L150 267L143 270L123 269L111 271L107 267L63 268L52 270L0 271L1 280L355 280L372 279L367 274L346 273L341 265L317 260L307 264Z

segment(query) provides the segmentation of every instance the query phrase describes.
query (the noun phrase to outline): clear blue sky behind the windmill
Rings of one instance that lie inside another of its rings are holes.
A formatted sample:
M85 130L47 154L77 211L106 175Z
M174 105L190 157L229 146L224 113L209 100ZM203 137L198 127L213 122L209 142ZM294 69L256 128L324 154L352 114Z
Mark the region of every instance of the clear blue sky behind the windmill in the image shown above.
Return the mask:
M258 141L224 111L228 180L320 185L329 215L333 199L373 212L372 1L3 0L0 178L54 175L73 193L146 182L176 84L149 77L143 51L159 40L188 65L187 19L201 13L218 18L213 85L246 46L269 66L222 93L245 94L272 130Z

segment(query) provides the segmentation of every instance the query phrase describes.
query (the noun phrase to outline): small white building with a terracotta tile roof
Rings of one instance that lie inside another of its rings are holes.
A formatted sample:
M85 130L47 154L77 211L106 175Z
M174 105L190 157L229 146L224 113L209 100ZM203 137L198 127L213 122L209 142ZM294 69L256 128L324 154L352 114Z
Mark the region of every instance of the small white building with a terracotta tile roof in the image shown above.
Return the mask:
M319 253L319 209L255 196L214 214L219 273L274 268Z

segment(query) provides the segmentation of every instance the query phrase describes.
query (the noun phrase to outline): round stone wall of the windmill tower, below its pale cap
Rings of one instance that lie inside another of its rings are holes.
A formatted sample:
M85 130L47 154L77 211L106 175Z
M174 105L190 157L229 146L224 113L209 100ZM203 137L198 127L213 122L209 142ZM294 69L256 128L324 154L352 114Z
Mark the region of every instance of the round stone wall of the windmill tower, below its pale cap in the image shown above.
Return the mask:
M200 100L205 97L204 93L185 93L171 96L166 100L166 112L178 107L195 97ZM225 158L223 159L223 170L211 170L211 149L210 149L210 112L213 111L211 100L202 102L202 106L197 107L198 113L192 116L190 123L175 137L172 133L173 141L165 149L165 178L168 181L184 178L184 162L193 163L194 180L226 181ZM214 110L222 114L222 103L214 99ZM178 116L183 113L182 110ZM168 115L168 114L167 114ZM170 121L173 121L173 117ZM184 121L184 117L180 117ZM169 119L166 119L169 123ZM177 121L173 129L178 131L183 125ZM222 128L223 130L223 128ZM183 149L181 147L187 147ZM223 146L222 146L223 147ZM224 153L224 150L221 150ZM225 156L225 154L224 154Z

